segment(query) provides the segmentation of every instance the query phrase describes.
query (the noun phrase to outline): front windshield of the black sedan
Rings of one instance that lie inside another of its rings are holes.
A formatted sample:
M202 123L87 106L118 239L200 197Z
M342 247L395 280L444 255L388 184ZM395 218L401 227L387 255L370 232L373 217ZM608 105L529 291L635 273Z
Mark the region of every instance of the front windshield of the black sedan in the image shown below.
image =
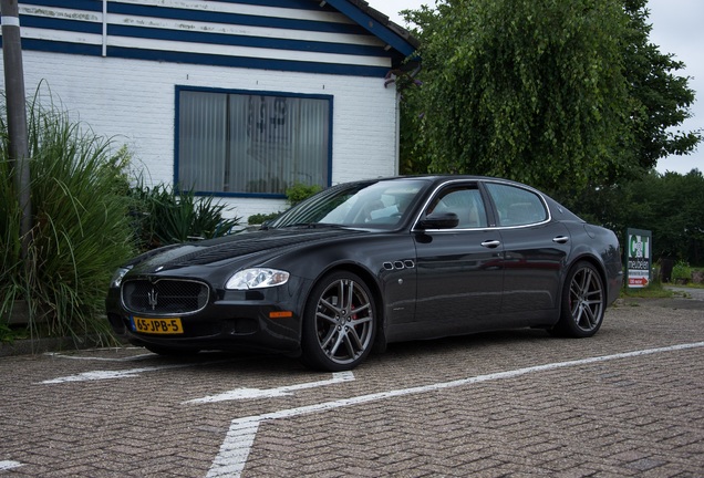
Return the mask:
M269 227L331 225L393 229L410 214L410 206L427 185L427 180L416 178L335 186L289 209Z

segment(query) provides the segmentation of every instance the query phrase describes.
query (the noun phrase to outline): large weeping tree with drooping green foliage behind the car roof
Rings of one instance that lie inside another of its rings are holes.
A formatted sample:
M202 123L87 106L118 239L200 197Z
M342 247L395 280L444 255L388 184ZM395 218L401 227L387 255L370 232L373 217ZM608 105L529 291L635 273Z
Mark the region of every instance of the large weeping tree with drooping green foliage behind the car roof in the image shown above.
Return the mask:
M615 1L456 0L413 20L432 170L560 190L619 167L630 107Z

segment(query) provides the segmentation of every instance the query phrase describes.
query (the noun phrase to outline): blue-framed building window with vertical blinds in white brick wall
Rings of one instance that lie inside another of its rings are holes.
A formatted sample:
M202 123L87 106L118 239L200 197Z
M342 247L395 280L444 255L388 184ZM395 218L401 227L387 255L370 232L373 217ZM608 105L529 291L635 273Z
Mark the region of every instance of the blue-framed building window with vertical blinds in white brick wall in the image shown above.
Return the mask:
M176 183L222 195L330 184L331 96L178 89Z

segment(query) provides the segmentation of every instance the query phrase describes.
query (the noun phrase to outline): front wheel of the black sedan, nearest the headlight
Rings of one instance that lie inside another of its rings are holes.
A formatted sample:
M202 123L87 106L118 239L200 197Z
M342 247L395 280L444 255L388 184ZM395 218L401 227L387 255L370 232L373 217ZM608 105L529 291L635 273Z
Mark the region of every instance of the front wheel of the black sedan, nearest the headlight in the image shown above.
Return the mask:
M306 303L301 362L340 372L369 355L376 333L374 297L356 274L338 271L321 279Z

